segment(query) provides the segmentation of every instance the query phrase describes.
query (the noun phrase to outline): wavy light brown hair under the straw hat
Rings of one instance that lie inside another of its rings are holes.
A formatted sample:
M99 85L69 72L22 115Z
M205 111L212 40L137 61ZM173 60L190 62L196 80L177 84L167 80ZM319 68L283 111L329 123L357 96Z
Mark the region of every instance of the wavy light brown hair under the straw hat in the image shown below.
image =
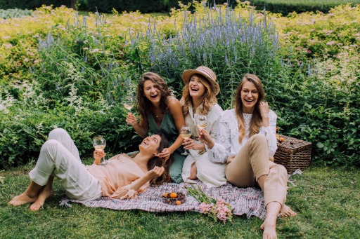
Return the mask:
M214 90L212 90L212 86L210 86L210 83L207 80L207 78L205 78L205 76L201 74L193 74L191 77L193 76L198 76L201 83L203 83L203 86L205 87L203 107L200 109L199 113L203 115L207 115L207 112L210 111L212 105L217 103L217 97L214 93ZM186 83L186 85L184 86L183 96L181 97L180 100L180 103L183 106L184 116L188 114L188 105L190 104L192 99L189 93L189 87L188 87L189 83L190 81L188 81L188 83Z

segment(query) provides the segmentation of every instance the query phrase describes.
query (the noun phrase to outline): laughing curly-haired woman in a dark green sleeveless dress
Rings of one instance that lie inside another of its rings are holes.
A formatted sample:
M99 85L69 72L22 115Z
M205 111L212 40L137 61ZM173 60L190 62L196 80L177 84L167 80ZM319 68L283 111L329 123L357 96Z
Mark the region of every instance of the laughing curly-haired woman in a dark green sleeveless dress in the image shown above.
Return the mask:
M133 125L140 137L163 132L169 141L169 148L162 150L159 157L169 158L173 155L170 165L170 177L175 183L181 183L181 171L185 156L181 153L184 139L179 135L181 126L184 125L184 116L179 100L172 97L165 81L153 72L144 73L138 83L137 109L140 113L140 122L134 114L127 114L126 122Z

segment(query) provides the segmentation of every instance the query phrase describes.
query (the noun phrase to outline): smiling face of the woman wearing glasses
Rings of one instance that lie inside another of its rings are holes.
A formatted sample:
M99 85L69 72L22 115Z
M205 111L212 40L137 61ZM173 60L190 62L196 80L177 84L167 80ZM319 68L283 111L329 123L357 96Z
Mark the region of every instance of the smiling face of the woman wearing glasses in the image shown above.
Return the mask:
M252 114L255 104L259 98L259 90L257 90L254 83L245 81L241 88L241 102L243 103L243 112Z

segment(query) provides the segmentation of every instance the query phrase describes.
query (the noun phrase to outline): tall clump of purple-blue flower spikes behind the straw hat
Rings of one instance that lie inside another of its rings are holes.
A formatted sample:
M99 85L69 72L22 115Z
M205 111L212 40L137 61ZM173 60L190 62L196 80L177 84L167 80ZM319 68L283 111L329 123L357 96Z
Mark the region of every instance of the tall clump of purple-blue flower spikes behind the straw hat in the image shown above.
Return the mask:
M169 38L157 32L156 26L150 26L145 38L150 58L147 67L166 76L175 89L182 88L179 79L185 69L210 67L221 88L219 104L224 109L231 108L233 93L243 74L267 76L274 71L271 67L277 60L276 29L262 14L258 19L256 13L250 13L247 19L224 6L211 10L197 5L196 10L203 17L184 13L184 22L176 22L183 26L181 31Z

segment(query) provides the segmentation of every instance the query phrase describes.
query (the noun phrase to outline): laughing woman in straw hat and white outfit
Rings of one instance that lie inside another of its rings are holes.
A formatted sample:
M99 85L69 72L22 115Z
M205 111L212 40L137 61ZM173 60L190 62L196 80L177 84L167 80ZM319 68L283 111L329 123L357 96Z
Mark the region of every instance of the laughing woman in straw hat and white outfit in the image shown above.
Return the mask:
M214 71L207 67L188 69L182 75L185 83L181 104L186 125L191 127L192 137L184 142L189 155L186 157L182 177L184 182L192 183L200 179L208 187L226 184L225 163L209 161L206 146L198 140L198 116L207 116L206 130L212 139L217 135L217 121L222 109L217 104L216 95L220 88Z

